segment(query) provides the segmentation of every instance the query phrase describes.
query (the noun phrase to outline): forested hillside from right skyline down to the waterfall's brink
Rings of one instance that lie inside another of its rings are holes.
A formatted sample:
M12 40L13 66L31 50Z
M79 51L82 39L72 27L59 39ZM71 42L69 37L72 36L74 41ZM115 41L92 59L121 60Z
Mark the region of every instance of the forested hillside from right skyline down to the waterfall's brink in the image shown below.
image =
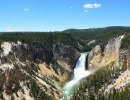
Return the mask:
M84 51L90 51L93 46L96 46L98 44L104 46L111 38L115 38L117 36L130 32L130 27L113 26L106 28L68 29L64 32L72 33L73 35L80 38L86 44ZM88 46L87 44L92 40L96 40L96 43Z

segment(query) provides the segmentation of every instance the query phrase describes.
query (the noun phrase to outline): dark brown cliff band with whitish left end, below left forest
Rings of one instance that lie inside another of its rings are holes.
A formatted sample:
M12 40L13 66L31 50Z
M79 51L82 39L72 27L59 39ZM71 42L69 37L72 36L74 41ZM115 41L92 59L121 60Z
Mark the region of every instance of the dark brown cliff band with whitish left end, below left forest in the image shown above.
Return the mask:
M21 62L35 62L49 64L53 58L52 52L45 49L36 48L22 43L3 42L1 44L1 63L8 63L7 60L19 59Z

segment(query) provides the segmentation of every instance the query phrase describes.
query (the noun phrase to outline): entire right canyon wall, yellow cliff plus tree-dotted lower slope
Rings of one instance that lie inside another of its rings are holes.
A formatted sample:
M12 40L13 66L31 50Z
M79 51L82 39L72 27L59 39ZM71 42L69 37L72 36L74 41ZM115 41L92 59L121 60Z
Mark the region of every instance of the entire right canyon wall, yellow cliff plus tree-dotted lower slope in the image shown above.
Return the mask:
M97 45L90 51L88 69L97 71L81 80L72 100L129 100L130 53L121 48L124 37L113 38L104 48Z

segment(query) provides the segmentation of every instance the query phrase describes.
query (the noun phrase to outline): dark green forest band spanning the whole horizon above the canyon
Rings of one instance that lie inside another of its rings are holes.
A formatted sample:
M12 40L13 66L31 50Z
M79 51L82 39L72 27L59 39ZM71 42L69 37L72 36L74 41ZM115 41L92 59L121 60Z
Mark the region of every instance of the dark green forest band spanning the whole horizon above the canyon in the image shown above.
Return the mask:
M130 32L130 27L106 27L92 29L68 29L62 32L0 32L0 41L22 41L50 50L55 43L63 43L80 52L90 51L94 46L104 46L111 38ZM88 45L92 40L95 44Z

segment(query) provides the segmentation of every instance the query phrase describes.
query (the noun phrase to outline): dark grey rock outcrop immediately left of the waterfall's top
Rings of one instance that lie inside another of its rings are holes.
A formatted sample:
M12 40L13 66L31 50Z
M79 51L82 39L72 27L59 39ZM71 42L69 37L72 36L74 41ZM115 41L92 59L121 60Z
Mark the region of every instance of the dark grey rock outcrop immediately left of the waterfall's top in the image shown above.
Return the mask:
M53 45L54 59L68 70L72 70L80 53L69 46L57 43Z

